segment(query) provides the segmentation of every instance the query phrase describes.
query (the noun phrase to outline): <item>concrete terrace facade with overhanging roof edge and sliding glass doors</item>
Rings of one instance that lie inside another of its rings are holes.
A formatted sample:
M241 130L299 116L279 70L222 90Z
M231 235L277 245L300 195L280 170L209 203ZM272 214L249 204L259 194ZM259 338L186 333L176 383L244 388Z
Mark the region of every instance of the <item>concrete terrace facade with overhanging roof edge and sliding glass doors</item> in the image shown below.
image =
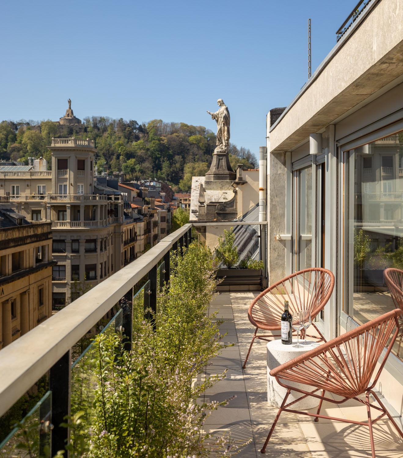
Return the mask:
M335 274L318 317L326 339L396 308L384 270L403 270L398 4L369 2L292 103L267 115L269 280L308 267ZM376 386L399 415L401 343Z

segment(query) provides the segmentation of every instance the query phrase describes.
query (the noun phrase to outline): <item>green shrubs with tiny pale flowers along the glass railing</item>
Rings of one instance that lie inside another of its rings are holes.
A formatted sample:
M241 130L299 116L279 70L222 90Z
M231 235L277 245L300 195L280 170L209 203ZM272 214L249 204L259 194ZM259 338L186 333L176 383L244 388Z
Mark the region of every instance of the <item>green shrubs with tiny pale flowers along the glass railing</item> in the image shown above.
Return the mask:
M77 371L76 382L86 387L86 394L78 390L73 400L82 423L72 427L71 456L196 457L220 449L226 456L232 453L228 449L235 447L228 437L215 440L202 433L207 412L220 404L199 401L204 390L225 375L192 383L220 351L217 324L207 316L216 285L213 256L195 241L183 249L183 256L172 254L169 289L159 293L150 321L143 318L141 295L133 301L131 353L122 350L117 333L95 338L90 356ZM89 436L86 447L83 431Z

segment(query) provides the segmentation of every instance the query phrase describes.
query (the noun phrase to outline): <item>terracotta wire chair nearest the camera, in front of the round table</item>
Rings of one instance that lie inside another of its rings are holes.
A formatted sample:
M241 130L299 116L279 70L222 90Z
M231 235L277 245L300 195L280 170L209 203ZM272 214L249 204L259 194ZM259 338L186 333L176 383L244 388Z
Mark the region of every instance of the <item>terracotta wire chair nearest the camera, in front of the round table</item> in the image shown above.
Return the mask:
M266 442L261 449L261 453L265 453L270 437L276 427L277 420L282 412L292 412L295 414L309 415L315 417L315 421L320 418L328 420L343 421L345 423L353 423L355 425L365 425L370 429L370 442L372 458L375 458L375 444L372 425L380 420L384 415L389 417L392 425L397 432L403 437L403 432L397 426L392 415L386 410L381 403L376 393L372 390L378 381L381 371L386 363L392 346L399 333L399 316L400 309L392 310L384 315L371 320L370 322L356 327L352 331L343 334L329 342L316 347L309 352L288 361L285 364L276 367L270 371L271 376L275 376L277 382L284 388L287 388L285 395L276 418L271 426L271 430L267 436ZM391 338L392 336L392 338ZM389 344L388 341L391 338ZM381 365L371 383L371 377L375 371L375 367L381 356L383 349L386 347L386 354L383 356ZM287 385L286 381L303 383L315 387L311 392ZM302 396L291 403L286 403L291 390L297 391ZM321 394L315 394L321 390ZM325 392L337 394L341 396L340 401L333 398L325 397ZM365 402L357 396L365 393ZM381 407L371 405L373 409L381 411L381 414L372 420L370 412L370 394L376 399ZM310 412L293 410L289 407L306 398L313 396L320 399L318 411L316 414ZM341 404L348 399L355 399L363 403L367 408L368 421L346 420L345 418L329 417L320 414L320 408L324 400L334 404Z

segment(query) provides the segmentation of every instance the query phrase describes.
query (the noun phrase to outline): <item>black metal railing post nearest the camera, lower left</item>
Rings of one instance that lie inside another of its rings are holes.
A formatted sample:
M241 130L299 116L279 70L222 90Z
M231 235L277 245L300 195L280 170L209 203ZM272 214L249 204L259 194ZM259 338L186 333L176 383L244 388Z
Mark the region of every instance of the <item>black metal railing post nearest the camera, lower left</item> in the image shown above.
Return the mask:
M69 428L63 428L61 423L66 421L66 415L70 415L71 379L72 356L69 350L50 368L49 386L52 392L52 423L54 425L50 444L51 456L58 450L64 450L70 438ZM66 458L68 456L67 452Z

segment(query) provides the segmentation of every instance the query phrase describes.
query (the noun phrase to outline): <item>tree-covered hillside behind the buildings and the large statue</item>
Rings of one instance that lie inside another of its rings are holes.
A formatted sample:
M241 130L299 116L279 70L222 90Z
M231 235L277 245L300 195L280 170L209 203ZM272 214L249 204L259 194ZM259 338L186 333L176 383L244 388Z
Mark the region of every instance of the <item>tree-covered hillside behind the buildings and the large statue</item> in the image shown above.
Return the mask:
M84 125L61 126L53 121L3 121L0 123L0 158L23 161L43 156L50 164L46 148L52 137L75 136L94 140L98 150L98 171L125 173L125 180L157 178L171 184L174 191L190 191L192 175L204 175L215 149L215 133L203 126L152 120L84 118ZM40 128L39 128L40 125ZM230 162L256 166L250 150L230 144Z

